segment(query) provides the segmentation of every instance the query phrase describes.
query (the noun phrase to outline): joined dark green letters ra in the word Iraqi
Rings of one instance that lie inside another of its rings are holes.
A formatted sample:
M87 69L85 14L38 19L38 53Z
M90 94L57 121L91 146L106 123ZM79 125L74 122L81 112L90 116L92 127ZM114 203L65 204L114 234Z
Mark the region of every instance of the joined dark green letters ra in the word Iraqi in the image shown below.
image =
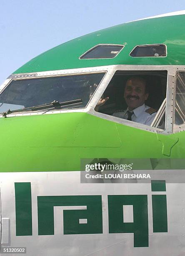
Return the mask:
M64 235L102 233L102 197L42 196L37 197L38 235L54 235L54 206L87 205L87 210L63 210ZM87 219L79 223L79 219Z

